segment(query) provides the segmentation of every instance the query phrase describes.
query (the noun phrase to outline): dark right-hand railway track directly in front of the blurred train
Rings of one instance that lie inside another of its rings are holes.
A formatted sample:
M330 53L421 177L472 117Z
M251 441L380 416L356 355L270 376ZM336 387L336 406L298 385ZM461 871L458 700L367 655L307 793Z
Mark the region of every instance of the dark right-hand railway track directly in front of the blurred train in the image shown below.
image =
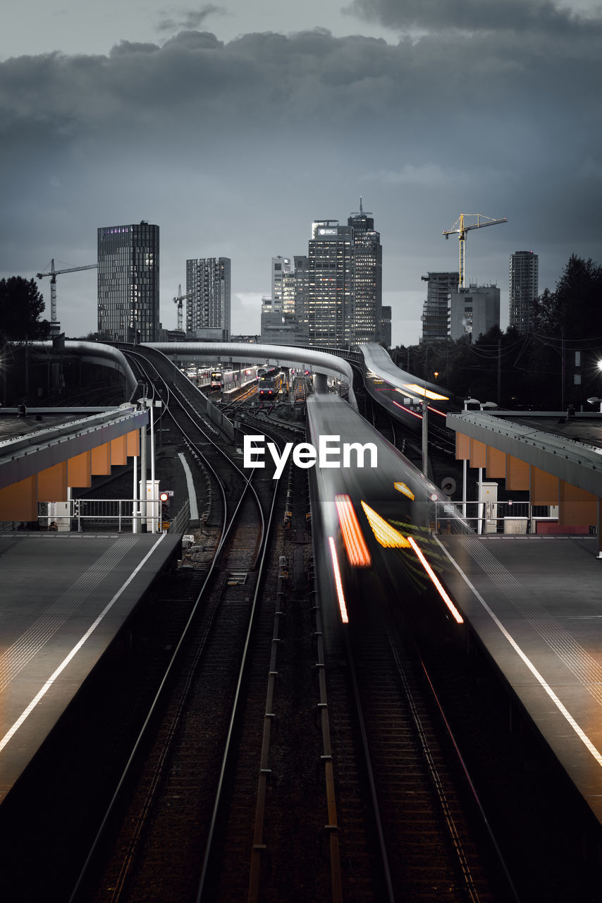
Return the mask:
M489 883L493 854L475 840L486 831L468 819L452 744L395 633L366 619L327 654L344 898L511 899Z

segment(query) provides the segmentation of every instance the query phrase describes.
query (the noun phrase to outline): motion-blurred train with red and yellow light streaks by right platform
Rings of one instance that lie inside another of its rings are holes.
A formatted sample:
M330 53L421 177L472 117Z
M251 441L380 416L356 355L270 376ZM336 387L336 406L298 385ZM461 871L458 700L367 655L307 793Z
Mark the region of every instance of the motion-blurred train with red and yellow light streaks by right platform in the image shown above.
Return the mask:
M366 601L377 596L423 591L436 591L449 609L433 534L469 528L448 498L338 396L310 396L307 442L326 454L310 470L310 489L314 551L331 613L345 622L369 611Z

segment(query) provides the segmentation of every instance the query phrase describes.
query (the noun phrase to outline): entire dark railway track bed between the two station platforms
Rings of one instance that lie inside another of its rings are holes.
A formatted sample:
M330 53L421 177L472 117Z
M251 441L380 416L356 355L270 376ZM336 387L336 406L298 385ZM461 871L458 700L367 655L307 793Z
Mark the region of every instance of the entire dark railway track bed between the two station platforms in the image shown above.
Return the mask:
M195 462L202 551L144 614L144 730L73 903L512 899L491 887L502 867L474 840L482 824L404 628L374 607L346 633L322 626L307 471L289 466L278 486L236 464L241 433L290 441L301 424L236 405L231 442L162 355L130 358L162 399L163 442Z

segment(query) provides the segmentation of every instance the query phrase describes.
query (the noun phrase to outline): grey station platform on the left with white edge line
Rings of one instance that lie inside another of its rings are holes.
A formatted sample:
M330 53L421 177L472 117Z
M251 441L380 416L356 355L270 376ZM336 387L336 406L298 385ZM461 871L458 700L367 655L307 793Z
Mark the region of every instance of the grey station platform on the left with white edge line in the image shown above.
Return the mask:
M180 543L0 534L0 805Z

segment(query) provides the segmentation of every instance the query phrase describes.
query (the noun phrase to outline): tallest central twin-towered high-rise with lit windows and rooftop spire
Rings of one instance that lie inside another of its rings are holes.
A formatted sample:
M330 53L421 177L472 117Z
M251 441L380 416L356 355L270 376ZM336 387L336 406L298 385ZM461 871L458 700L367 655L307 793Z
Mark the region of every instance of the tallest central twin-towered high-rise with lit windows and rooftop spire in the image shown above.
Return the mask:
M378 341L382 320L383 257L374 219L362 209L347 226L313 223L309 243L310 345L344 347Z

